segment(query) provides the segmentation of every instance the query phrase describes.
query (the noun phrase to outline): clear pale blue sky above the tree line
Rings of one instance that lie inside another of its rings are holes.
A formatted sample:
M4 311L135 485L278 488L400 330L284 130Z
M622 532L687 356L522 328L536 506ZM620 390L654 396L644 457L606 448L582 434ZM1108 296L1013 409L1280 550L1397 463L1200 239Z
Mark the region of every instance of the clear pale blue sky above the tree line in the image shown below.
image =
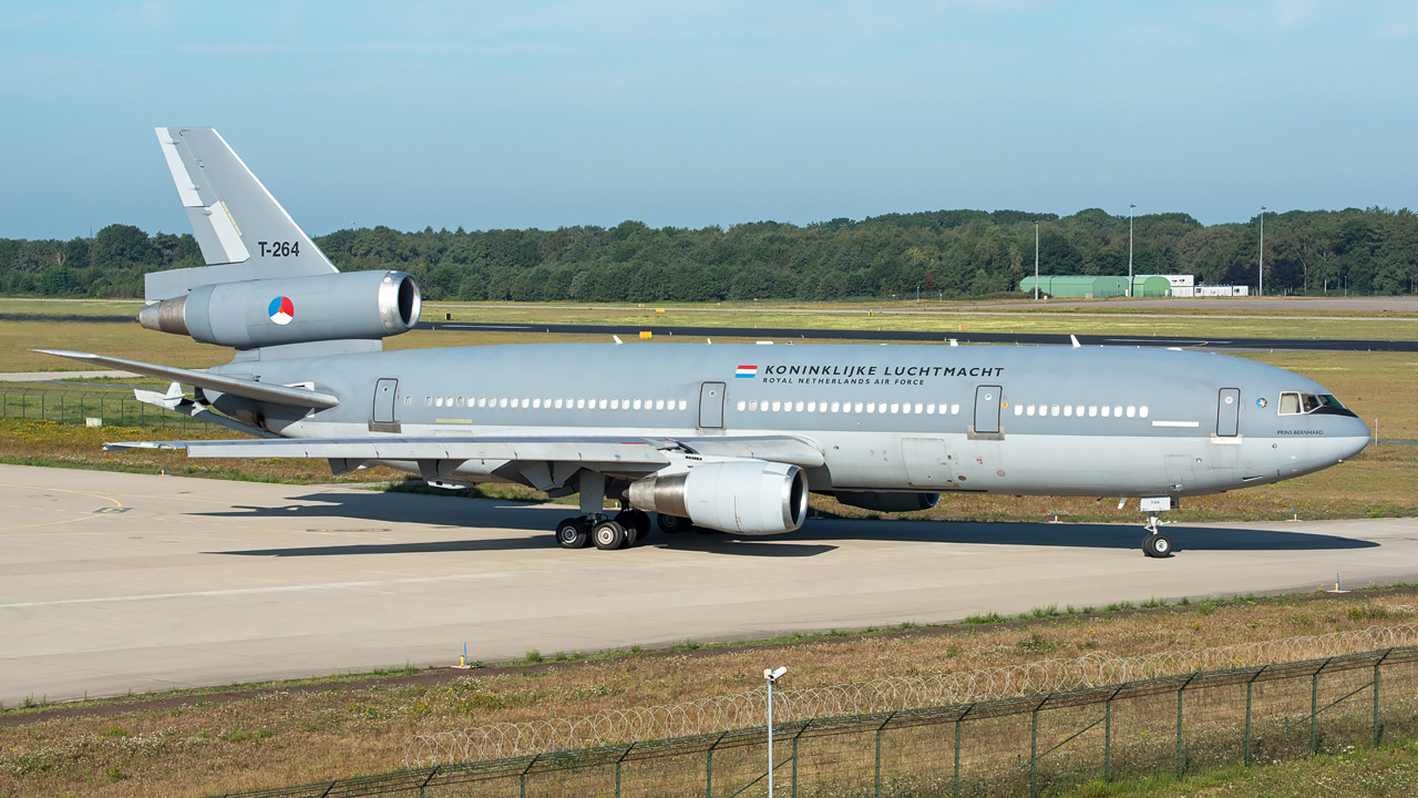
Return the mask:
M211 125L312 234L1408 207L1418 3L3 3L0 236L189 231Z

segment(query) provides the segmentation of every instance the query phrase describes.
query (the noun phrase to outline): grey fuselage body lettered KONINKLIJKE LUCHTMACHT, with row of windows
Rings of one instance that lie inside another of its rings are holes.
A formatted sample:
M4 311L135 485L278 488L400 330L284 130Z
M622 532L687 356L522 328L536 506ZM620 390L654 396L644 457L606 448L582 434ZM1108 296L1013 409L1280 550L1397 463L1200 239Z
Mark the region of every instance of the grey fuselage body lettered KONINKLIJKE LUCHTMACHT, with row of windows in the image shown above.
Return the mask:
M1183 351L545 344L213 371L346 398L328 410L261 406L267 426L286 437L377 437L376 386L397 381L404 436L786 434L822 452L825 464L808 471L817 491L1197 496L1316 471L1370 440L1353 415L1278 413L1280 392L1329 393L1310 379ZM723 426L705 429L710 382L725 383ZM498 406L481 406L488 399ZM976 433L977 399L998 413L978 429L997 423L998 434ZM581 406L587 400L596 409ZM1231 423L1234 436L1225 434ZM464 463L451 477L501 479L495 470Z

